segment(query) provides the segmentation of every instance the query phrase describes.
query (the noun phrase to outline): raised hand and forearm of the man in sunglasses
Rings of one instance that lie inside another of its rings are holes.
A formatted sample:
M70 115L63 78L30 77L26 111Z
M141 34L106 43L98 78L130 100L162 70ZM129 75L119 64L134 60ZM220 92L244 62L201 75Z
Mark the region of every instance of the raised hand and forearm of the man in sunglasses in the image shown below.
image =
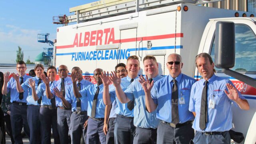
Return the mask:
M146 80L145 78L143 78L142 75L140 75L139 81L146 95L146 108L148 109L148 112L154 112L154 110L156 110L156 107L157 107L157 105L155 104L155 102L151 97L151 89L154 86L154 80L150 84L147 75L146 75Z

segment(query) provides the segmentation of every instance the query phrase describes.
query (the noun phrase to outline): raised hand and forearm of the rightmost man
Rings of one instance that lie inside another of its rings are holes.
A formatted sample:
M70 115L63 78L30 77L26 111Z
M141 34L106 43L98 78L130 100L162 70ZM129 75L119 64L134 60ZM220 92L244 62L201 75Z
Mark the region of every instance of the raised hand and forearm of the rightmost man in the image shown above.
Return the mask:
M243 110L249 110L250 106L247 102L246 99L241 99L238 95L238 92L236 90L236 88L234 86L232 86L232 84L226 84L228 91L224 90L224 92L226 93L226 95L228 96L228 98L230 100L234 100L238 106L243 109Z

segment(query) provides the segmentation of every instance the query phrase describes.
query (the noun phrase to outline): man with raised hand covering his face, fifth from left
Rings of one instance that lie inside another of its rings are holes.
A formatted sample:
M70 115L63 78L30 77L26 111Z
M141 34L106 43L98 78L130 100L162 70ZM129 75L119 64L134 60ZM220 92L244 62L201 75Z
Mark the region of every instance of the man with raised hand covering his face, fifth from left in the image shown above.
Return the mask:
M92 83L84 80L82 70L79 67L72 68L71 80L73 84L69 86L66 93L66 100L72 104L70 136L72 144L80 144L81 136L86 140L87 128L84 128L84 122L88 119L88 98L76 98L74 96L73 87L78 88L78 90L83 90Z

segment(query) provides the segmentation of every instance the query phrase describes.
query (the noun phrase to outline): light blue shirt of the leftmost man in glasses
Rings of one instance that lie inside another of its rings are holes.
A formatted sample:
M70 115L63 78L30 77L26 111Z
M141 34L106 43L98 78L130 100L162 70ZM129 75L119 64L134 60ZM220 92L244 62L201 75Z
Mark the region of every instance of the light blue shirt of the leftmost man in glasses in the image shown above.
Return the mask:
M27 76L26 74L23 77L23 82L26 82L28 78L31 78L31 76ZM21 78L20 78L21 81ZM10 102L26 102L27 103L27 97L28 97L28 90L25 90L23 92L23 99L19 99L20 93L17 90L16 86L16 80L14 78L11 78L10 81L7 83L7 93L10 92L11 100Z

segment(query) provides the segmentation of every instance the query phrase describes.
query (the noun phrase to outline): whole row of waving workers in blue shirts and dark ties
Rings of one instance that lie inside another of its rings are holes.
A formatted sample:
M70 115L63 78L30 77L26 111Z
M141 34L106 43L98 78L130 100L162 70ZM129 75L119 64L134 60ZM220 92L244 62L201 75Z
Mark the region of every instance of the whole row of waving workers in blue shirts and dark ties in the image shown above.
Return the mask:
M69 77L67 66L50 66L46 76L36 64L30 77L18 62L18 75L6 72L2 87L10 93L15 144L22 144L22 126L30 144L50 144L51 128L55 144L80 144L81 137L86 144L230 144L231 105L250 106L230 80L216 76L209 54L196 56L198 81L182 74L179 54L168 56L164 77L154 56L143 64L145 76L138 76L137 56L112 72L96 68L92 84L79 67Z

